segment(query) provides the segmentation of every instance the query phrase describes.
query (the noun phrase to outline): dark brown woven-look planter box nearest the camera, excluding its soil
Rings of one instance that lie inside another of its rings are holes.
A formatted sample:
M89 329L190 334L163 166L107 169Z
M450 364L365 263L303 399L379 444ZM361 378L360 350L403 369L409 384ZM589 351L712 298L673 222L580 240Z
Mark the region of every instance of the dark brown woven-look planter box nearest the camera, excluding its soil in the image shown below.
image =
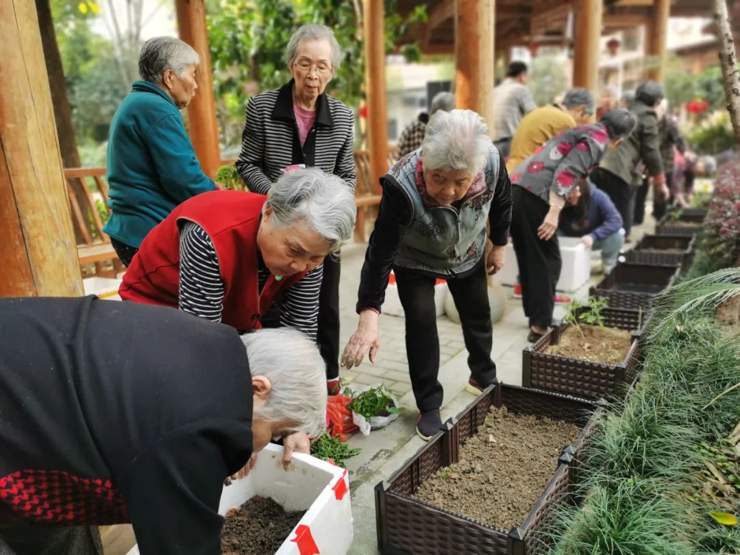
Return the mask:
M491 406L511 412L538 414L568 420L582 430L566 447L552 480L534 502L521 526L505 531L411 498L419 485L440 468L457 462L460 445L474 435ZM578 457L597 413L605 402L566 397L548 391L517 386L492 386L456 418L445 423L443 434L434 437L404 463L387 482L375 486L377 545L383 555L531 555L545 545L543 525L554 508L570 499L578 471Z

